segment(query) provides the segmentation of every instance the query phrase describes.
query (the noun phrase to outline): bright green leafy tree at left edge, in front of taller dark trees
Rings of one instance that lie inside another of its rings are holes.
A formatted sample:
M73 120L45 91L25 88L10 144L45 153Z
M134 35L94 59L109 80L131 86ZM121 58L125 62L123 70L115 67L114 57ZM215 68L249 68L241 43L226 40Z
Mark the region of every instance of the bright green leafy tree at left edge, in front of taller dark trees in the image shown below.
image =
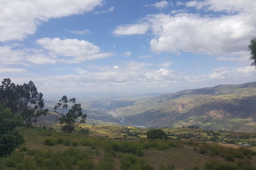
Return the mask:
M10 108L3 109L0 104L0 157L10 155L25 143L23 135L15 130L22 122L21 115L13 115Z

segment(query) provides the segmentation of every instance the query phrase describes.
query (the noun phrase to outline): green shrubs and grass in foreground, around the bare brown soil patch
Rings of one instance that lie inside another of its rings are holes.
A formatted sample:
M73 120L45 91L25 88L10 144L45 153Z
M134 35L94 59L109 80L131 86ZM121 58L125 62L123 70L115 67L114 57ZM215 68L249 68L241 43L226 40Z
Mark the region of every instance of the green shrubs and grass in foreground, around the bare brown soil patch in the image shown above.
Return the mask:
M38 148L31 149L29 144L21 146L10 157L0 160L0 169L78 169L78 170L112 170L114 160L120 162L118 169L153 170L145 163L143 151L155 148L159 151L177 147L190 146L194 151L209 156L223 158L222 162L210 161L205 164L209 170L256 170L251 165L256 152L247 148L225 148L216 144L198 143L183 140L112 140L90 137L83 134L65 134L43 128L21 128L27 143L33 142ZM43 145L42 145L43 144ZM56 147L66 146L62 151ZM44 147L42 147L44 146ZM47 149L42 149L47 146ZM86 147L83 147L86 146ZM95 157L100 160L95 162ZM176 169L173 164L159 167L161 170ZM199 167L186 170L199 170Z

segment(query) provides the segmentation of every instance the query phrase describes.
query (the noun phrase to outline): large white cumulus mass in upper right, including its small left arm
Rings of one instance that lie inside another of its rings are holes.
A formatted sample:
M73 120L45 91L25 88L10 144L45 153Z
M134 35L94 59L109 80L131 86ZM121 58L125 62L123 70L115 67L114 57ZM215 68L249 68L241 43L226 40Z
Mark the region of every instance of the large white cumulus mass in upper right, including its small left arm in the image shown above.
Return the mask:
M184 4L177 2L176 5ZM145 27L139 33L152 31L154 38L150 40L150 48L155 53L179 54L180 51L186 51L217 56L218 60L242 60L241 56L232 53L248 50L249 40L255 36L254 0L204 0L187 2L185 5L187 10L205 9L209 14L184 13L186 9L172 11L171 14L148 14L137 24L117 26L114 34L138 34L139 29L131 31L133 27ZM220 11L226 11L227 14L215 14Z

